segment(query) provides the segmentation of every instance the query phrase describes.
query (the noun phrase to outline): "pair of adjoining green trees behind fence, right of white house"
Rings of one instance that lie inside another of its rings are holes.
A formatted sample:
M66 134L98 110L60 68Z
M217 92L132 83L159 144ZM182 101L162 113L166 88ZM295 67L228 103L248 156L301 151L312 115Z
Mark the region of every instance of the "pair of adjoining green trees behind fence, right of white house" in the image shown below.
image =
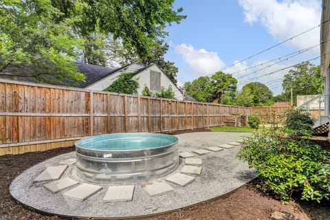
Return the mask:
M184 85L186 93L199 102L218 99L221 104L232 104L236 96L237 80L230 74L217 72L211 77L201 76Z

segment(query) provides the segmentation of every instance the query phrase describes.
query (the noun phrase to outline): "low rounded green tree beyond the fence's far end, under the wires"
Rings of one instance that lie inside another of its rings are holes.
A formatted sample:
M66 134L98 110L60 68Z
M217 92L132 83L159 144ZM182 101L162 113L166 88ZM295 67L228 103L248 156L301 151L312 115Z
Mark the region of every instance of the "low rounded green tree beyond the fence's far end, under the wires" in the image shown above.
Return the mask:
M236 104L246 107L272 105L273 93L263 83L248 83L242 87Z

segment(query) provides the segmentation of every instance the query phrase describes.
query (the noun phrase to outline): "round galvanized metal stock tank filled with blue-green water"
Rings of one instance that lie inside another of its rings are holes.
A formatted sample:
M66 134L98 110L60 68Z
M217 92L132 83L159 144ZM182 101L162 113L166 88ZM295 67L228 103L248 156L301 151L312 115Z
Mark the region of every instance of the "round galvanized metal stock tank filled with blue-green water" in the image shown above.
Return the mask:
M76 173L91 182L140 181L172 173L178 139L156 133L113 133L76 142Z

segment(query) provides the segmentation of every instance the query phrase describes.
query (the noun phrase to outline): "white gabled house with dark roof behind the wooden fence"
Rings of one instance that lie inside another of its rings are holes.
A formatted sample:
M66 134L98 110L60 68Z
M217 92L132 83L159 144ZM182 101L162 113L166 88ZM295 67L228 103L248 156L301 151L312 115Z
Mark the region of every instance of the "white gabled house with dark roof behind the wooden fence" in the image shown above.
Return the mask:
M137 61L124 67L111 69L109 67L79 63L78 69L86 76L86 82L81 83L78 86L80 88L103 91L107 89L120 74L131 73L139 82L140 87L137 89L139 95L142 94L144 86L154 92L161 91L162 87L165 89L172 87L175 98L177 100L184 100L184 94L181 90L178 89L170 78L155 64L145 67L142 63Z

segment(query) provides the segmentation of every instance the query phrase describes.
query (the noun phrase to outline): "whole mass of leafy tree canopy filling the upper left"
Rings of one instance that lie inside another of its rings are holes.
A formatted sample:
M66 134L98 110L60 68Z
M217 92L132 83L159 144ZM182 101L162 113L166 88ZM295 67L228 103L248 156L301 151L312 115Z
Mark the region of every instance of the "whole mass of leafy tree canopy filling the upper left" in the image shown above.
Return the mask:
M74 61L106 64L109 39L140 58L151 56L166 25L185 18L173 2L0 0L0 74L11 76L16 68L15 76L78 84L85 76Z

